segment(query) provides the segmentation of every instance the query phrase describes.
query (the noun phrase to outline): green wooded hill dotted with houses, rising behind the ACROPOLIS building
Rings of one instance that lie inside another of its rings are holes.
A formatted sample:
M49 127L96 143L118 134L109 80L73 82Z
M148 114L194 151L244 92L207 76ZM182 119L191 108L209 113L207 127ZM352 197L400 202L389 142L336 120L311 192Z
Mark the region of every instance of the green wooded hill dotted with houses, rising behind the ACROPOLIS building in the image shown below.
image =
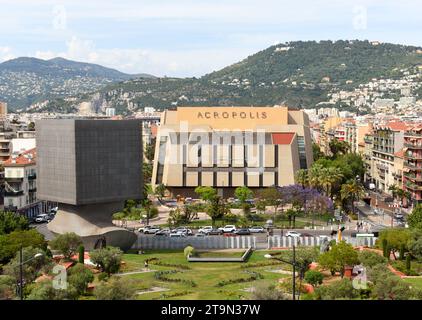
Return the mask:
M126 80L72 100L49 101L32 110L75 112L83 102L93 111L108 106L120 114L175 105L286 103L314 108L333 93L353 91L374 78L403 79L410 73L420 81L420 66L420 47L359 40L295 41L271 46L201 78Z

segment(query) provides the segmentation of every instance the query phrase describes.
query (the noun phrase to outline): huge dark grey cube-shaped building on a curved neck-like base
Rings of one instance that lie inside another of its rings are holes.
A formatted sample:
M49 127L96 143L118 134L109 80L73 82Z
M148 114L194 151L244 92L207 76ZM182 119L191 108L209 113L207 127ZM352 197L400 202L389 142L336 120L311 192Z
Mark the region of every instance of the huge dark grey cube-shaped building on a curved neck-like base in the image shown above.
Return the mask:
M88 247L103 237L116 245L128 231L111 215L142 194L140 121L40 120L36 138L38 197L59 202L49 229L76 232Z

